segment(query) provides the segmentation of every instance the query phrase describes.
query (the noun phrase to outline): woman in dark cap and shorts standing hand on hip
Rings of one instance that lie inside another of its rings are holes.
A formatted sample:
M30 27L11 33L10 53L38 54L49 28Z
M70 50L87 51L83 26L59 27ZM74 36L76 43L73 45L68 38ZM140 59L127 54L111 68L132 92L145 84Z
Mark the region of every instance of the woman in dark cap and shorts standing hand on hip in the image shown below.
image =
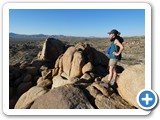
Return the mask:
M100 83L101 86L108 88L109 85L114 85L114 82L116 80L117 72L116 72L116 65L118 60L121 60L121 53L124 49L122 42L123 38L120 37L120 32L118 32L116 29L111 30L109 33L110 41L111 41L111 46L107 50L110 60L109 60L109 76L108 80L105 82ZM113 76L115 76L114 80L111 82L113 79Z

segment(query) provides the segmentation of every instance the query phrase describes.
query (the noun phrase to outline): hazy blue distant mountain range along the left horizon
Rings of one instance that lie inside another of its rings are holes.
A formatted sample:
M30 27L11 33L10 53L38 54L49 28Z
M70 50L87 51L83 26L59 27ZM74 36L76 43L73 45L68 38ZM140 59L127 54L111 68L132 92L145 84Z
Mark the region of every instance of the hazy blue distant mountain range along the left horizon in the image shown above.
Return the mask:
M10 40L13 40L13 39L16 39L16 38L17 39L21 39L21 38L22 39L28 39L28 38L46 39L46 38L49 38L49 37L54 37L54 38L57 38L57 39L60 39L60 38L83 38L83 37L65 36L65 35L44 35L44 34L25 35L25 34L9 33ZM92 36L92 37L89 37L89 38L96 38L96 37Z

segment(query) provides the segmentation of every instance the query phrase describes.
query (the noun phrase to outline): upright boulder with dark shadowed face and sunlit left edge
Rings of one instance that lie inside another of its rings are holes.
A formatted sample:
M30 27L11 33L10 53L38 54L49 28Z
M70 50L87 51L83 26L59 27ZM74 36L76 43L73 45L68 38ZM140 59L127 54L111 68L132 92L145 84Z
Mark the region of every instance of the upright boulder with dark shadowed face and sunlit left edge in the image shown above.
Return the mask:
M59 55L63 54L65 51L65 45L58 39L48 38L46 39L41 55L39 55L40 60L50 61L55 64L55 61Z

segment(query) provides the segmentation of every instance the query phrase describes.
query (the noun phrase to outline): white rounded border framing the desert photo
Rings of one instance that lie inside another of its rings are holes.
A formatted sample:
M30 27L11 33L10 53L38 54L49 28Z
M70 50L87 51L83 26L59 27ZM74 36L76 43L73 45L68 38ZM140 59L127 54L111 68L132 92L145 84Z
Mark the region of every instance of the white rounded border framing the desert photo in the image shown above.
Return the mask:
M151 6L148 3L6 3L3 6L3 112L6 115L148 115L142 109L9 109L10 9L145 9L145 89L151 89Z

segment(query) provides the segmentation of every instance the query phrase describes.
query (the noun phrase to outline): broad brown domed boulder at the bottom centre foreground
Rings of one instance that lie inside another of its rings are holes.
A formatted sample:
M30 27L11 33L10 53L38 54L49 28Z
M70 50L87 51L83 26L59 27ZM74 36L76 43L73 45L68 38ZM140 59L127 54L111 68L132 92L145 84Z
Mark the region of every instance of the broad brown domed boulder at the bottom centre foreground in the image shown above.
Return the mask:
M93 109L93 106L79 88L65 85L36 99L31 109Z

